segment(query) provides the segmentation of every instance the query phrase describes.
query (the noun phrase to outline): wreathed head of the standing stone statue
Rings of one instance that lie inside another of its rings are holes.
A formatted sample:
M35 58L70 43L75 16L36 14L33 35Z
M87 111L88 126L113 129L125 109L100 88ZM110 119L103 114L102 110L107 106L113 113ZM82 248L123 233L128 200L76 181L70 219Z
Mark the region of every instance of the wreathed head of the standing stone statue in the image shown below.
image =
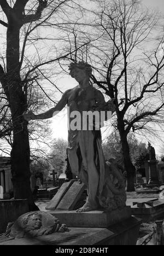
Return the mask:
M69 65L70 75L75 78L78 83L83 81L84 79L90 79L92 75L91 65L84 61L72 62Z

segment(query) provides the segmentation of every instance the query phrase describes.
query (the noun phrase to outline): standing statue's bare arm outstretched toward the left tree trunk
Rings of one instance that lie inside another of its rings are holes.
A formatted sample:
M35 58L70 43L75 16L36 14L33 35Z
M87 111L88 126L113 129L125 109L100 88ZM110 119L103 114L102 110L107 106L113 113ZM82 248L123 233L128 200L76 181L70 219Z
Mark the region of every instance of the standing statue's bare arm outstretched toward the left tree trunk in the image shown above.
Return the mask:
M51 108L48 111L46 111L42 114L38 114L38 115L35 115L30 111L28 113L24 113L24 118L27 121L30 121L30 120L48 119L48 118L54 117L54 115L56 115L58 112L60 112L66 106L67 100L68 100L68 91L66 91L63 94L63 96L61 97L61 100L58 101L58 103L56 104L56 106L54 108Z

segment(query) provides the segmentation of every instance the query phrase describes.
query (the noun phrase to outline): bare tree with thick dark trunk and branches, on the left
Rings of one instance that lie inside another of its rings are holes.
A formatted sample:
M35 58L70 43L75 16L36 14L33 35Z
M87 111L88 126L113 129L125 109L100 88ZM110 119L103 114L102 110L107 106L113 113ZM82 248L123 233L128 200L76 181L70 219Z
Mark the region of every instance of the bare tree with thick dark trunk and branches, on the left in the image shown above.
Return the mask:
M40 81L43 78L49 79L49 70L53 70L53 63L70 55L65 50L65 45L61 44L65 38L61 37L61 34L58 36L55 28L62 28L71 23L74 19L71 11L76 11L79 5L71 0L0 0L0 7L2 17L0 24L6 29L4 33L6 51L3 53L4 61L0 65L0 82L11 112L13 130L11 173L14 197L27 198L30 210L35 210L30 189L29 133L22 114L28 108L31 83L35 82L42 88ZM49 37L47 27L51 27L50 33L54 32L56 36ZM43 35L43 31L46 34L44 37L40 36ZM60 39L58 44L57 39ZM49 48L46 54L45 40L56 43L47 43L50 44L51 51ZM54 69L56 69L55 64Z

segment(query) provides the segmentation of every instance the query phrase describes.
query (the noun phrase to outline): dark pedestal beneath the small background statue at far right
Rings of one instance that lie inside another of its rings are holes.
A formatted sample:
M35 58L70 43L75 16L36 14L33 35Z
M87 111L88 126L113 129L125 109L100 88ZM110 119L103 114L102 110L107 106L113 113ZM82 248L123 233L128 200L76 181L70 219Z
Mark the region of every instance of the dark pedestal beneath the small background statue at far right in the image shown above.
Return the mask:
M158 174L157 174L157 161L150 160L150 161L148 161L148 164L149 164L148 187L153 188L153 187L159 185L159 178L158 178Z

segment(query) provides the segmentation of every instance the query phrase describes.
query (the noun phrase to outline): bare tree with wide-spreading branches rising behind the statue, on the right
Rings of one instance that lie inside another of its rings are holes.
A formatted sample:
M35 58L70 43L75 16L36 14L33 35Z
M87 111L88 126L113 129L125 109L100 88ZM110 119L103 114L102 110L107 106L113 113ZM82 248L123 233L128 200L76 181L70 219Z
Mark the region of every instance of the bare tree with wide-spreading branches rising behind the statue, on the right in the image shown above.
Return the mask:
M93 84L115 98L114 126L120 134L127 191L133 191L135 167L127 135L130 131L155 135L153 125L163 126L164 121L163 28L159 14L138 1L92 2L98 5L91 10L90 35L99 39L87 46L83 56L80 51L72 55L72 60L87 59L95 71Z

